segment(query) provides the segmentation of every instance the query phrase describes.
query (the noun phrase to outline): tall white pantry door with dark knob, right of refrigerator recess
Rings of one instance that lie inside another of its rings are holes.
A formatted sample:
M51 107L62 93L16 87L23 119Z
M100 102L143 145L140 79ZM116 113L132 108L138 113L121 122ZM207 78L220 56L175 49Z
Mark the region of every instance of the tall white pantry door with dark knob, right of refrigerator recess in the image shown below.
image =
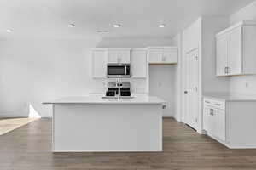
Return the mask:
M198 50L185 56L185 123L197 129L199 115L199 62Z

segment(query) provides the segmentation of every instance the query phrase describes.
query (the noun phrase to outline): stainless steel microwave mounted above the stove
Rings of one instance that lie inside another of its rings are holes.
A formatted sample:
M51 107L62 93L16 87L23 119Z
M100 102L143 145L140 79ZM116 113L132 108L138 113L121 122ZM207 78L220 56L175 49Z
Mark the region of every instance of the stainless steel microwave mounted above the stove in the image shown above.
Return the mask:
M130 64L108 64L107 77L131 77Z

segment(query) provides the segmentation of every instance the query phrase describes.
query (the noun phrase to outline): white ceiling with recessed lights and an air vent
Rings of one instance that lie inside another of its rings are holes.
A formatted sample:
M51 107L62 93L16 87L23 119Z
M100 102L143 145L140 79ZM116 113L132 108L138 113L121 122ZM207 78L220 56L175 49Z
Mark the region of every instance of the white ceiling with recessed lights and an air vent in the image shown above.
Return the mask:
M0 0L0 37L173 37L200 15L253 0ZM67 25L74 23L74 28ZM113 28L119 23L120 28ZM166 23L165 28L158 28ZM13 29L7 33L6 29ZM109 30L96 33L96 30Z

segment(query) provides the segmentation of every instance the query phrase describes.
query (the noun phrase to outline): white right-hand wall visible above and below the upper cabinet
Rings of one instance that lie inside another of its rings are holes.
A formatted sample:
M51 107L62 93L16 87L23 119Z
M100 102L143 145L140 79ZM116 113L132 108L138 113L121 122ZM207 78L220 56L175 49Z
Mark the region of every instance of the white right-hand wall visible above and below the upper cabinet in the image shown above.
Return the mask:
M256 20L256 1L230 16L230 25L240 20ZM256 94L256 76L230 78L230 93Z

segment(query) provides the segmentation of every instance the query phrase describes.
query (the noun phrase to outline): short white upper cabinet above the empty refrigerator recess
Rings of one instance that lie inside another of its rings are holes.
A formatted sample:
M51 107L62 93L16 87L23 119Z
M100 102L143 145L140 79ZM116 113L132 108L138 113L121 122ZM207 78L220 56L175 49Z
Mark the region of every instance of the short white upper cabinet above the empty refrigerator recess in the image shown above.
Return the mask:
M149 47L149 64L177 64L177 47Z

